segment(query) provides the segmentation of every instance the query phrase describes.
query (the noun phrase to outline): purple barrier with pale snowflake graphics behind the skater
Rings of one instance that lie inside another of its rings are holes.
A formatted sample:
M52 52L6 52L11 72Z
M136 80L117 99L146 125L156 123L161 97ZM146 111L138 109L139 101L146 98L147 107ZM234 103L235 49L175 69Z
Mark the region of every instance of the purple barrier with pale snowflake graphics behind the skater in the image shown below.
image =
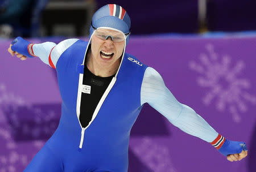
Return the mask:
M0 171L22 171L57 127L61 98L55 71L11 57L10 42L0 41ZM131 131L129 171L255 171L255 45L256 37L131 37L127 52L159 71L177 100L217 132L245 141L249 156L229 162L146 105ZM230 85L232 92L205 97Z

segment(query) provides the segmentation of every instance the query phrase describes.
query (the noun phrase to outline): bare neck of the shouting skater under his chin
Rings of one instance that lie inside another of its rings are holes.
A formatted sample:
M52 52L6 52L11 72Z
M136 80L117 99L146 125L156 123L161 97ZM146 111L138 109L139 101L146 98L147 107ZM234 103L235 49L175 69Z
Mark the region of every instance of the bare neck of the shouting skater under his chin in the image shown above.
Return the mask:
M104 67L100 66L96 61L94 61L91 50L89 50L86 56L86 66L88 70L92 72L94 75L100 77L113 76L117 73L119 65L121 63L121 58L119 58L117 62L115 62L113 65Z

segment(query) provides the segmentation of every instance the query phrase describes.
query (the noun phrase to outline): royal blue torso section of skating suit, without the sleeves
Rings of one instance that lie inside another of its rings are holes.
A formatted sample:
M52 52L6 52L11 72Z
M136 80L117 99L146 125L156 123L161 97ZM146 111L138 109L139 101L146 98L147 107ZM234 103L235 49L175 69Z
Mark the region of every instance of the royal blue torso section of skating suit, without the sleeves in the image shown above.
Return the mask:
M79 85L87 44L76 41L56 63L63 100L59 126L25 171L127 171L129 136L142 108L140 91L147 66L137 65L128 59L137 60L135 57L125 54L92 121L82 128ZM42 157L47 164L37 160Z

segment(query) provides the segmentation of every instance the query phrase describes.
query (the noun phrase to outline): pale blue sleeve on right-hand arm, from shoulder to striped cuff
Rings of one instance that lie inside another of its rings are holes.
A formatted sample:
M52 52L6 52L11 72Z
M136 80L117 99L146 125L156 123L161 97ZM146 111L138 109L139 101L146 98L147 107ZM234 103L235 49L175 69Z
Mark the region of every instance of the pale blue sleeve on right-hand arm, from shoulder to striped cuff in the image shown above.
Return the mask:
M152 67L147 67L142 81L141 105L144 103L148 103L187 134L209 143L218 136L218 133L195 110L176 100L164 84L162 76Z

